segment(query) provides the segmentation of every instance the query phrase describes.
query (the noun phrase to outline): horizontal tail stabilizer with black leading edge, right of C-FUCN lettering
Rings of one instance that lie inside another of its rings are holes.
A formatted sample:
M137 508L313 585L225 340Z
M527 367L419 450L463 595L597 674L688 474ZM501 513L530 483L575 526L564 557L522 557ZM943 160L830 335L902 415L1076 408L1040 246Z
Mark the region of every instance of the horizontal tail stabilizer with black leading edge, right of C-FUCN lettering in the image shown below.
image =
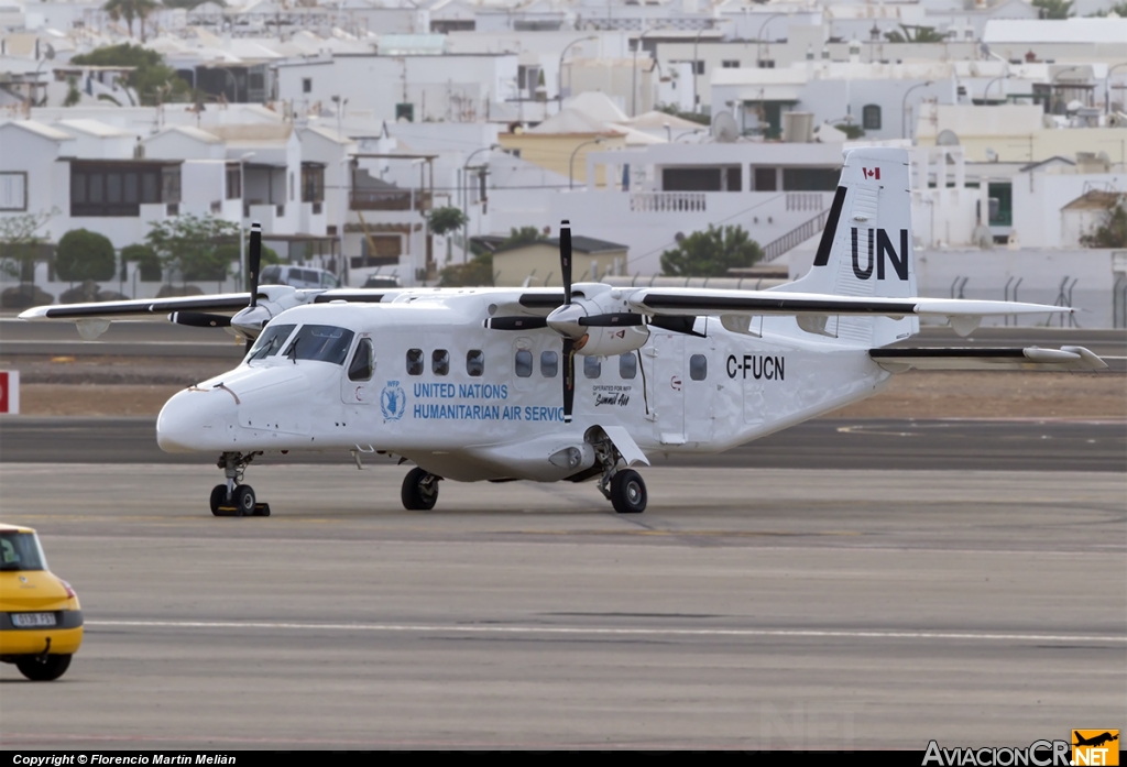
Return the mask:
M1081 346L1041 349L969 347L953 349L870 349L887 371L1102 371L1107 363Z

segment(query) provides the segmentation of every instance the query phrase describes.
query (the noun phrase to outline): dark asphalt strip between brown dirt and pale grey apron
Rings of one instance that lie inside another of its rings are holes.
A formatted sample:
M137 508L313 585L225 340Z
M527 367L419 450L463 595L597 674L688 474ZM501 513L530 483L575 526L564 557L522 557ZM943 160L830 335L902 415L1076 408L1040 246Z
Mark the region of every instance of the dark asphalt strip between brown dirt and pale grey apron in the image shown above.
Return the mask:
M2 463L214 465L218 455L168 454L152 418L0 417ZM654 455L655 466L1127 471L1127 423L1039 420L819 419L715 455ZM367 463L387 464L381 458ZM340 453L270 454L256 464L343 465Z

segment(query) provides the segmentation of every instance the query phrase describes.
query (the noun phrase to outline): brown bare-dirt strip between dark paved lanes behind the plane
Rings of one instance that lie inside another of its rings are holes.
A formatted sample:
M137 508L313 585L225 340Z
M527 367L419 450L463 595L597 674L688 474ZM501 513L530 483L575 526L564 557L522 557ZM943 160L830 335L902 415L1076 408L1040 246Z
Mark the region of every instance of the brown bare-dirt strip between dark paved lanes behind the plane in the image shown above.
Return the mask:
M178 389L230 369L225 359L19 357L20 411L29 416L156 416ZM831 418L1127 418L1127 375L920 372Z

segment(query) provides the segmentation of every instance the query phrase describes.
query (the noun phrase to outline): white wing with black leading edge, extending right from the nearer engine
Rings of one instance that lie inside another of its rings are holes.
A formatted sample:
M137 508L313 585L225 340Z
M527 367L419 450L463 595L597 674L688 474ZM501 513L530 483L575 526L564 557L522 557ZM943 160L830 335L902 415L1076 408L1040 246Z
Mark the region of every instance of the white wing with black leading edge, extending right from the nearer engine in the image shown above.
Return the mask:
M971 301L961 298L860 297L820 293L781 293L775 291L696 291L651 287L637 291L628 303L644 314L860 314L869 316L949 316L980 318L997 314L1041 314L1073 312L1070 306L1027 304L1011 301Z

